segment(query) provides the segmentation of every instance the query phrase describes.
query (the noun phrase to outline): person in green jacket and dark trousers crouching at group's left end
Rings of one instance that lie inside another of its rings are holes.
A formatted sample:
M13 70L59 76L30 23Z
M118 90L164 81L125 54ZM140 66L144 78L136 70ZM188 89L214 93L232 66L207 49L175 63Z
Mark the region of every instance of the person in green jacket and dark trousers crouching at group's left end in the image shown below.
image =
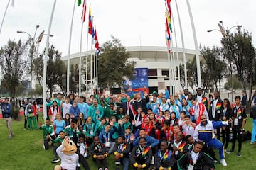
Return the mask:
M50 140L55 139L53 125L50 125L50 119L46 118L46 125L39 123L40 129L43 130L43 149L49 149Z

